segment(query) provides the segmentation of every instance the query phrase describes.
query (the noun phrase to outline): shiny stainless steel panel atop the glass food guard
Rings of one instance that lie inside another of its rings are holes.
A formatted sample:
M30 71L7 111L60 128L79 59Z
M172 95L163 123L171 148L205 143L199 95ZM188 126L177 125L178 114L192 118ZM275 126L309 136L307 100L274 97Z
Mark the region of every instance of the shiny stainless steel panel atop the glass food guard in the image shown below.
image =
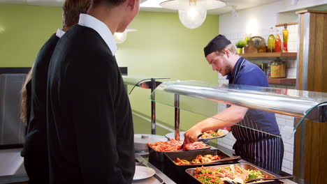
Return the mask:
M225 87L201 86L195 81L165 82L157 88L158 90L296 117L305 116L308 110L319 105L319 102L327 101L327 93L291 89L283 89L284 91L281 92L281 89L233 84ZM163 103L169 104L169 102ZM326 104L319 105L319 107L324 106ZM326 122L326 108L319 107L312 109L312 115L307 118Z

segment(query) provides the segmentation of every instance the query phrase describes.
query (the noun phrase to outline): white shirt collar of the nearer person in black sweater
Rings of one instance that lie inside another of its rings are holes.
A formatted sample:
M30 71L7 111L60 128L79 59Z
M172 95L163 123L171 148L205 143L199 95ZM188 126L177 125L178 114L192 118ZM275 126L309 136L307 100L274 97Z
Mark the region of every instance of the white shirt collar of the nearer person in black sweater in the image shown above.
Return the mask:
M98 32L101 38L108 45L110 51L112 52L112 56L115 56L117 52L117 45L115 38L113 38L112 33L106 24L96 19L96 17L92 17L91 15L84 13L80 14L80 20L78 21L78 24L81 26L87 26Z

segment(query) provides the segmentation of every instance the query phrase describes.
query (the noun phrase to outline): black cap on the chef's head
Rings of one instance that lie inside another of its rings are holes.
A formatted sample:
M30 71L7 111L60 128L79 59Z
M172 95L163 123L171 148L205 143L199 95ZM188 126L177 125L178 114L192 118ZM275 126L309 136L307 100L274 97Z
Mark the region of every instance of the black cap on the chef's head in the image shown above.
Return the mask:
M207 46L204 47L205 56L215 52L219 49L226 47L231 44L231 41L228 40L224 35L219 35L213 38Z

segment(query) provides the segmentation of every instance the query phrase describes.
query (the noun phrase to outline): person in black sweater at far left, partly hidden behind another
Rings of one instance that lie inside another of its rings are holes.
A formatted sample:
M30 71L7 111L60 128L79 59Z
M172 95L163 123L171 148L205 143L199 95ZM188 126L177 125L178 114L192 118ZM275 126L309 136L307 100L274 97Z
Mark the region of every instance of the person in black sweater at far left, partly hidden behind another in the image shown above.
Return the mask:
M29 183L49 183L48 136L46 96L48 66L54 47L65 31L78 23L80 13L86 13L89 0L66 0L63 7L63 28L58 29L38 52L34 67L27 75L22 88L21 118L27 125L26 139L22 150L24 167Z

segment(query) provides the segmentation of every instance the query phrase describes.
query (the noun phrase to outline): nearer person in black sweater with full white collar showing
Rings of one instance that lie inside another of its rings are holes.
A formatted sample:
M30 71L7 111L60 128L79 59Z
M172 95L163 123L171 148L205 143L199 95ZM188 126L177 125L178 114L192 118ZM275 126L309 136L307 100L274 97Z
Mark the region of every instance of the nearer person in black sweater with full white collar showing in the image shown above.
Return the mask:
M131 106L112 35L139 7L139 0L93 0L57 43L48 73L50 183L132 182Z

